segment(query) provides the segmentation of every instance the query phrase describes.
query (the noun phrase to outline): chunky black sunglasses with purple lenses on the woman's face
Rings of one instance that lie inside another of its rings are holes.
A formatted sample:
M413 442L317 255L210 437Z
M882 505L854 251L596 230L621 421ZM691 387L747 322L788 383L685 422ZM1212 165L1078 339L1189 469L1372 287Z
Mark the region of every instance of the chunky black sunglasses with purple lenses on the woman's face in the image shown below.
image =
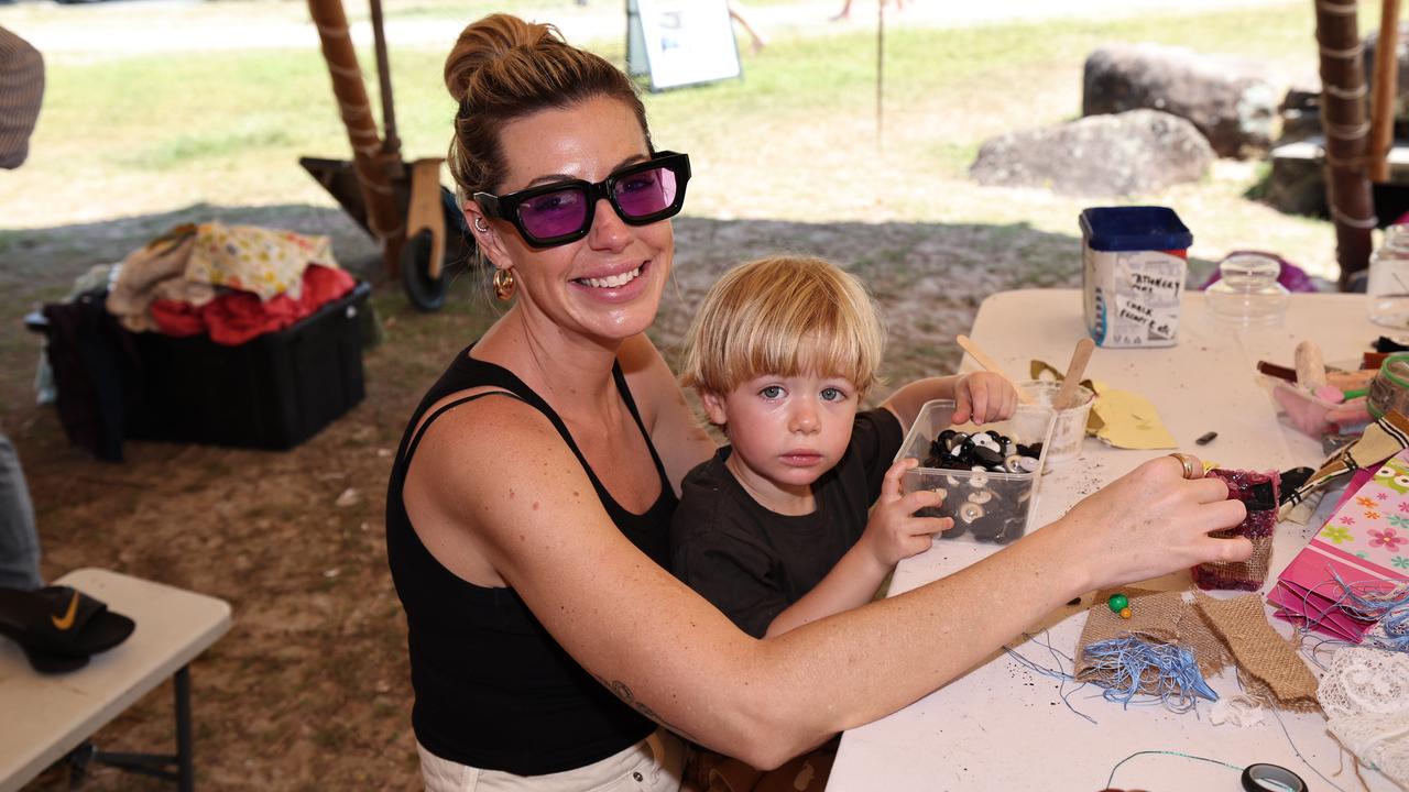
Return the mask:
M662 151L595 185L573 179L506 196L475 193L475 203L486 214L513 223L530 245L551 248L586 237L602 199L607 199L627 225L648 225L675 217L685 206L685 183L689 180L689 155Z

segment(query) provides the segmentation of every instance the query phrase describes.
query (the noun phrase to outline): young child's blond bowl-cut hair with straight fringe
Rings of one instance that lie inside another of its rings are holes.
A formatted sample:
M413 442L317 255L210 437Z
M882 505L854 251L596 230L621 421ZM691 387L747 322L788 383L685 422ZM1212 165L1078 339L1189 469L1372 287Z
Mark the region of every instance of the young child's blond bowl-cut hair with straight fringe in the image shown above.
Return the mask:
M728 393L761 375L879 383L885 330L865 287L837 265L778 255L734 266L704 296L685 341L681 383Z

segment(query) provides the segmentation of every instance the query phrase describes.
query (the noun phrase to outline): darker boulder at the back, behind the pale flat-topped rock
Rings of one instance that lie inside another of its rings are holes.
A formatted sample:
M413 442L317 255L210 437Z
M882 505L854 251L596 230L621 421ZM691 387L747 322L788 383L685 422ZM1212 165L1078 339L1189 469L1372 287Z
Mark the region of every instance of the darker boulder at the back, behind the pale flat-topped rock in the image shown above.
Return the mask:
M1265 152L1277 90L1257 66L1158 44L1102 47L1086 58L1082 116L1151 109L1188 118L1219 156Z

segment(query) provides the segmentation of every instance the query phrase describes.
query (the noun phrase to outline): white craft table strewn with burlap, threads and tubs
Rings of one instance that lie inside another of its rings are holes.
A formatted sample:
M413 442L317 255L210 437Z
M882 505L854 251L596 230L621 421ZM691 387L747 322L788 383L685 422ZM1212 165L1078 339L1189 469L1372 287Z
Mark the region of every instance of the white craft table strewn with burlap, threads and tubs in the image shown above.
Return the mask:
M974 341L1017 379L1029 361L1065 369L1076 340L1085 335L1081 292L1033 289L1003 292L986 299L974 323ZM903 331L893 327L892 331ZM1148 397L1179 444L1226 468L1288 469L1316 466L1320 444L1279 423L1275 404L1257 380L1260 359L1292 364L1301 340L1313 340L1327 361L1357 359L1382 334L1365 318L1363 295L1293 295L1279 327L1234 328L1215 321L1203 295L1185 295L1178 345L1153 349L1096 348L1088 376L1110 388ZM1216 431L1208 445L1195 438ZM1082 496L1119 478L1137 464L1167 451L1110 448L1086 438L1082 457L1043 476L1033 526L1064 514ZM1281 523L1268 585L1319 524ZM952 574L995 545L937 540L934 547L899 564L890 593L900 593ZM1157 589L1192 588L1186 572L1141 583ZM1003 592L972 605L974 619L1002 607ZM1034 624L1030 634L1067 652L1076 651L1085 623L1082 603L1064 607ZM1274 624L1284 634L1291 627ZM1057 662L1034 640L1009 644L1044 665ZM943 651L943 647L936 647ZM1071 671L1069 664L1065 665ZM1210 679L1220 695L1239 692L1231 671ZM1072 713L1061 693L1071 691L1050 676L1030 671L999 651L940 691L875 723L847 731L841 740L827 789L831 792L944 791L944 789L1072 789L1095 792L1106 786L1112 768L1137 751L1178 751L1244 767L1282 765L1301 775L1310 789L1332 789L1320 771L1343 789L1360 789L1344 754L1319 714L1278 713L1262 726L1213 726L1209 705L1198 713L1175 714L1158 705L1122 709L1086 686L1068 700L1095 724ZM1284 733L1285 727L1285 733ZM1295 744L1295 748L1293 748ZM1305 757L1298 758L1298 751ZM1310 767L1308 767L1308 764ZM1374 771L1363 771L1372 789L1394 789ZM1226 767L1169 754L1141 755L1120 767L1112 779L1120 789L1240 789L1240 775Z

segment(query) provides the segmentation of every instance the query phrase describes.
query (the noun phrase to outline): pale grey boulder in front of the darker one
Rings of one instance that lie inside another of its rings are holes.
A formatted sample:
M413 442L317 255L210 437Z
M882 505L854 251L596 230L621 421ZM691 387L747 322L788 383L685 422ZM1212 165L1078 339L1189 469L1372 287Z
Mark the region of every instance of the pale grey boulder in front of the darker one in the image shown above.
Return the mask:
M1074 196L1131 196L1195 182L1215 159L1193 124L1158 110L1091 116L983 144L969 176L982 185Z

